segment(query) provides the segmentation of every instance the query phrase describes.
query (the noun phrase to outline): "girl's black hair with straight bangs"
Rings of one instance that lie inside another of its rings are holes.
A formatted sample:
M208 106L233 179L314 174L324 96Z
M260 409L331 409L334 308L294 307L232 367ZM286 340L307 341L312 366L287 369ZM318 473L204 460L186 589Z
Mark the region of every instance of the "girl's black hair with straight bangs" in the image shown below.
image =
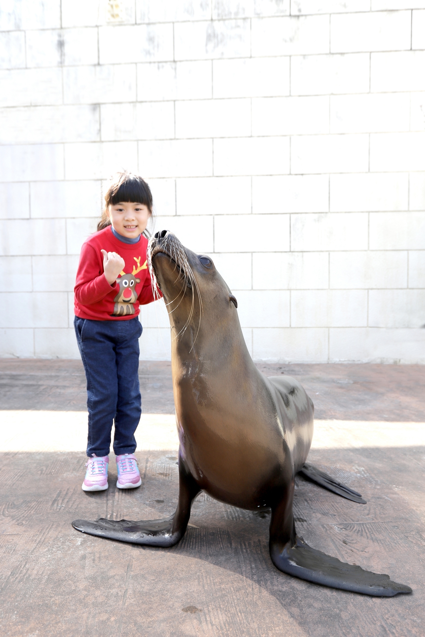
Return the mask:
M103 230L107 225L111 225L108 208L116 206L121 201L144 204L152 215L152 192L150 192L148 184L140 176L122 171L122 173L116 173L113 176L108 190L106 190L104 209L101 220L97 224L97 230Z

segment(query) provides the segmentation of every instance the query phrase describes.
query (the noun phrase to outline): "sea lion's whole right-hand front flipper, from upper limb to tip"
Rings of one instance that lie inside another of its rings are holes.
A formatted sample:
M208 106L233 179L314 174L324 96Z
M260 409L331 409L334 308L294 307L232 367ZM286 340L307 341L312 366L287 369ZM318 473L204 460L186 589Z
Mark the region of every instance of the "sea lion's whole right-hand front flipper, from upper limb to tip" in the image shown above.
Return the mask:
M388 575L364 571L360 566L340 562L336 557L309 547L296 534L293 499L294 478L282 489L282 499L271 508L270 557L280 571L307 582L375 597L412 592L408 586L392 582Z

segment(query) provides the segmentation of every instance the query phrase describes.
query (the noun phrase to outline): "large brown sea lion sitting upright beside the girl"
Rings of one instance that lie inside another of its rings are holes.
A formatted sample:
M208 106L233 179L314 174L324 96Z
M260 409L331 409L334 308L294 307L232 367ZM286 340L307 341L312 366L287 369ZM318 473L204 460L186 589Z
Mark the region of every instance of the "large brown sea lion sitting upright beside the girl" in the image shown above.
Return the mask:
M270 556L289 575L336 589L391 597L412 589L309 547L296 534L297 473L343 497L361 495L306 465L313 403L294 378L266 378L254 365L237 301L210 259L168 231L149 241L148 264L171 325L171 366L180 440L176 512L165 520L75 520L78 531L156 547L184 535L199 491L253 511L271 509Z

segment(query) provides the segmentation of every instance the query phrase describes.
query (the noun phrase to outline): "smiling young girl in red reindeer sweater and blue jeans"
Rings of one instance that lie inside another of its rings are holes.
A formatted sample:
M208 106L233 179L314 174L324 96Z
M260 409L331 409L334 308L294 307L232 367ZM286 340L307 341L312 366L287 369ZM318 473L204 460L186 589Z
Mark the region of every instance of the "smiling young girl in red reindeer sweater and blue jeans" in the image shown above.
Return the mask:
M85 243L75 283L75 333L87 378L89 436L82 488L108 489L112 422L119 489L141 485L134 432L141 415L140 304L154 301L147 269L152 194L145 181L117 173L97 233ZM160 293L159 293L160 294Z

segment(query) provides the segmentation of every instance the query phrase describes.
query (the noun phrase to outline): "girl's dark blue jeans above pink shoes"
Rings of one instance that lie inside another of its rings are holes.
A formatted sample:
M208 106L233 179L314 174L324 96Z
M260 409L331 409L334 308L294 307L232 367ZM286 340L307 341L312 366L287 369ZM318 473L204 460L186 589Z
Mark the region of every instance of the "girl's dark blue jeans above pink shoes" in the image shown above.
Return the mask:
M109 454L113 420L115 455L134 454L141 414L140 321L75 317L74 327L87 378L87 455Z

